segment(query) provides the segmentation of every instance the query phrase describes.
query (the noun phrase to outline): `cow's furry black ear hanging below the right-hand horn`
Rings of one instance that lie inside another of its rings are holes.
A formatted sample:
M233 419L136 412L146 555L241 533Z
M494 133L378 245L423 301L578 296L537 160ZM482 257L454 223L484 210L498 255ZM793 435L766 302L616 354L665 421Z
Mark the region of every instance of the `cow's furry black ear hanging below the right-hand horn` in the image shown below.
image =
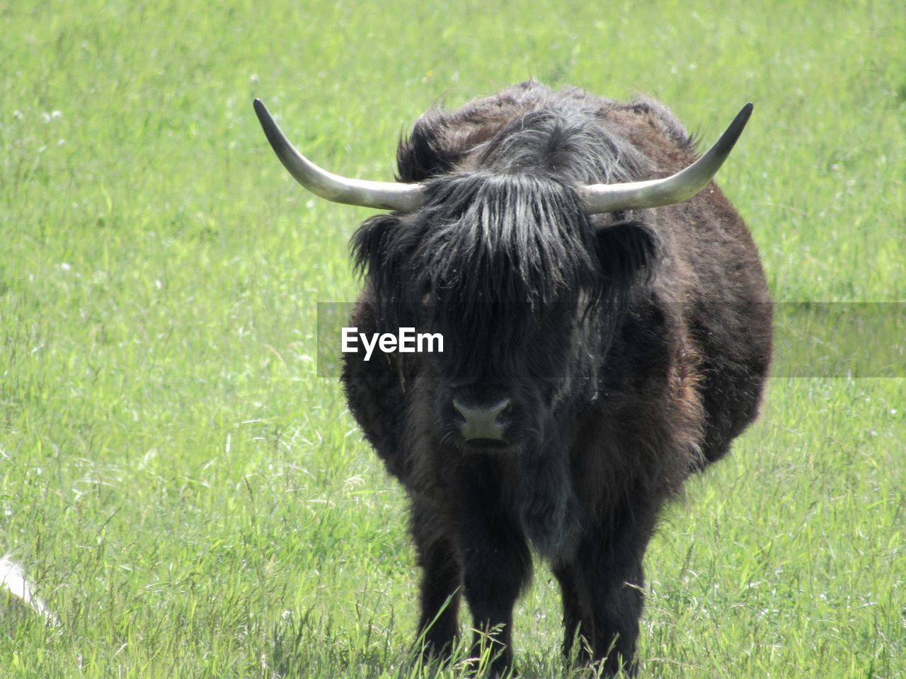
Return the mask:
M598 258L611 285L631 285L649 278L660 257L660 239L651 225L619 222L597 230Z

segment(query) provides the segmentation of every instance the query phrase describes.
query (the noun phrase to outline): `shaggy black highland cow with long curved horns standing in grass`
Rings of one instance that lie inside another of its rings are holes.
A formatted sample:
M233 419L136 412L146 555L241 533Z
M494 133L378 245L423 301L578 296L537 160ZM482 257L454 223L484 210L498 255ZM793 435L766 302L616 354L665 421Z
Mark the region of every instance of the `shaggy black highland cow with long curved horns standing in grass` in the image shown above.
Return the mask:
M397 183L325 172L255 109L304 186L392 210L353 236L351 325L445 340L347 354L342 374L410 496L429 655L465 595L506 671L532 547L563 591L565 653L581 637L583 660L634 673L658 513L755 419L770 362L757 251L710 181L751 107L697 161L657 101L525 82L425 113Z

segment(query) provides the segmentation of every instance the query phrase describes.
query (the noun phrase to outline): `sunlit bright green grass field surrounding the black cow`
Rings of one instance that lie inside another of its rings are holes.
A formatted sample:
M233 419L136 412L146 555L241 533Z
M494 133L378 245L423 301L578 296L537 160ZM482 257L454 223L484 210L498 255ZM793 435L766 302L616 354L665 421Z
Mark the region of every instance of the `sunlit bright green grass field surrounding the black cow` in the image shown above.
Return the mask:
M420 675L404 498L315 371L316 303L354 299L370 211L304 194L255 96L311 158L373 179L429 105L529 76L650 92L703 143L752 100L718 179L776 299L906 301L896 0L24 0L0 19L0 556L60 621L0 595L2 677ZM904 493L906 380L772 379L651 546L641 675L906 675ZM559 642L539 564L522 674L560 676Z

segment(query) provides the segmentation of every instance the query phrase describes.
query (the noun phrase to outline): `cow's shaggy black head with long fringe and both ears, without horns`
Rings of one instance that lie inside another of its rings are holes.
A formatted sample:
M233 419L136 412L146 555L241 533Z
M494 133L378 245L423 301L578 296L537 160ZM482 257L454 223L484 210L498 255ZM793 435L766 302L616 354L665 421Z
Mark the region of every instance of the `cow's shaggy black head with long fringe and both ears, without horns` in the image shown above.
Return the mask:
M594 397L612 312L655 250L647 227L594 225L572 190L520 175L444 177L353 240L385 330L443 336L419 365L439 440L469 450L540 445Z

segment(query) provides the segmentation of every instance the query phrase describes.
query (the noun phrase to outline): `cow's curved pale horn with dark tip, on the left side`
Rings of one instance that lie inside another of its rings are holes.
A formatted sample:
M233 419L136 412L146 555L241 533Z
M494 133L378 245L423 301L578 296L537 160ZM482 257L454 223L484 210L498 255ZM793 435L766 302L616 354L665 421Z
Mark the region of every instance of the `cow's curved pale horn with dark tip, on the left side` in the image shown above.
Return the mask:
M424 191L420 184L347 179L316 166L286 139L271 118L264 101L255 100L255 113L277 158L280 158L280 162L295 180L315 196L333 200L334 203L399 212L414 212L424 203Z

